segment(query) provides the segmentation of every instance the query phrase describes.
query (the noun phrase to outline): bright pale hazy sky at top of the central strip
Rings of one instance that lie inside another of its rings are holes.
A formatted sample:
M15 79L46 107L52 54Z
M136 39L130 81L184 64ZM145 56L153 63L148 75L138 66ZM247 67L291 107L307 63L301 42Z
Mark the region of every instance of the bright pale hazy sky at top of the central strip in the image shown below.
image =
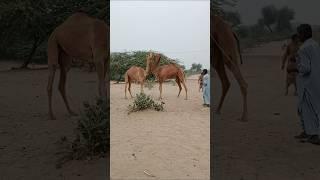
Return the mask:
M110 2L111 52L155 50L210 67L210 1Z

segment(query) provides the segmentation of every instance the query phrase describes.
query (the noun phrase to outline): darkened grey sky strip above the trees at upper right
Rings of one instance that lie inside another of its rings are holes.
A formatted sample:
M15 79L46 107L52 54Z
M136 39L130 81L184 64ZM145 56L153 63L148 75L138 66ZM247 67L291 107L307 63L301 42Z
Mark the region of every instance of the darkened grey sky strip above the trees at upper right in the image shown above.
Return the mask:
M270 4L293 9L296 12L295 21L299 23L320 25L319 0L238 0L235 10L242 16L243 23L254 24L261 17L261 8Z

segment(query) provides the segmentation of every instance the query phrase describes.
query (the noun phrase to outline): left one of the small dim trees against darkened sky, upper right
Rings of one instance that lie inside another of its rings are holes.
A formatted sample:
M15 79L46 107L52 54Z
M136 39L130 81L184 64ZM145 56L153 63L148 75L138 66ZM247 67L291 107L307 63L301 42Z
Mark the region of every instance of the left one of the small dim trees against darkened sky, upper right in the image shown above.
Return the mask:
M266 27L272 32L271 25L277 20L277 9L274 5L265 6L261 10L263 22Z

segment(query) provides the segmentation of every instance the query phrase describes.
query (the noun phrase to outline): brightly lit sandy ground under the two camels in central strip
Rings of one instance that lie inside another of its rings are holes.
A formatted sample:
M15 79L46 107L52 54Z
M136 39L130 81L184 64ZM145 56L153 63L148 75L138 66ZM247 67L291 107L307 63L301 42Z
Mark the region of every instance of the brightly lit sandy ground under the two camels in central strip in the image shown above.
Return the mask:
M178 86L163 86L165 111L127 114L132 99L124 99L124 84L111 83L111 177L113 180L209 179L210 109L202 106L197 76ZM133 85L133 94L139 85ZM145 93L157 99L158 84ZM145 173L146 172L146 173ZM151 177L150 175L154 177Z

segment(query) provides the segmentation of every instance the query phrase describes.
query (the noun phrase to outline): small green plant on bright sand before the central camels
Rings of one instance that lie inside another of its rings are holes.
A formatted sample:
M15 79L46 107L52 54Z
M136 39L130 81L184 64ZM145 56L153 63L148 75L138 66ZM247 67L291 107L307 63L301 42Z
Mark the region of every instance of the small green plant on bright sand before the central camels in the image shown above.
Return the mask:
M143 111L146 109L154 109L156 111L163 111L164 110L164 102L157 103L155 102L151 96L147 96L144 93L137 94L133 105L129 105L129 113Z

